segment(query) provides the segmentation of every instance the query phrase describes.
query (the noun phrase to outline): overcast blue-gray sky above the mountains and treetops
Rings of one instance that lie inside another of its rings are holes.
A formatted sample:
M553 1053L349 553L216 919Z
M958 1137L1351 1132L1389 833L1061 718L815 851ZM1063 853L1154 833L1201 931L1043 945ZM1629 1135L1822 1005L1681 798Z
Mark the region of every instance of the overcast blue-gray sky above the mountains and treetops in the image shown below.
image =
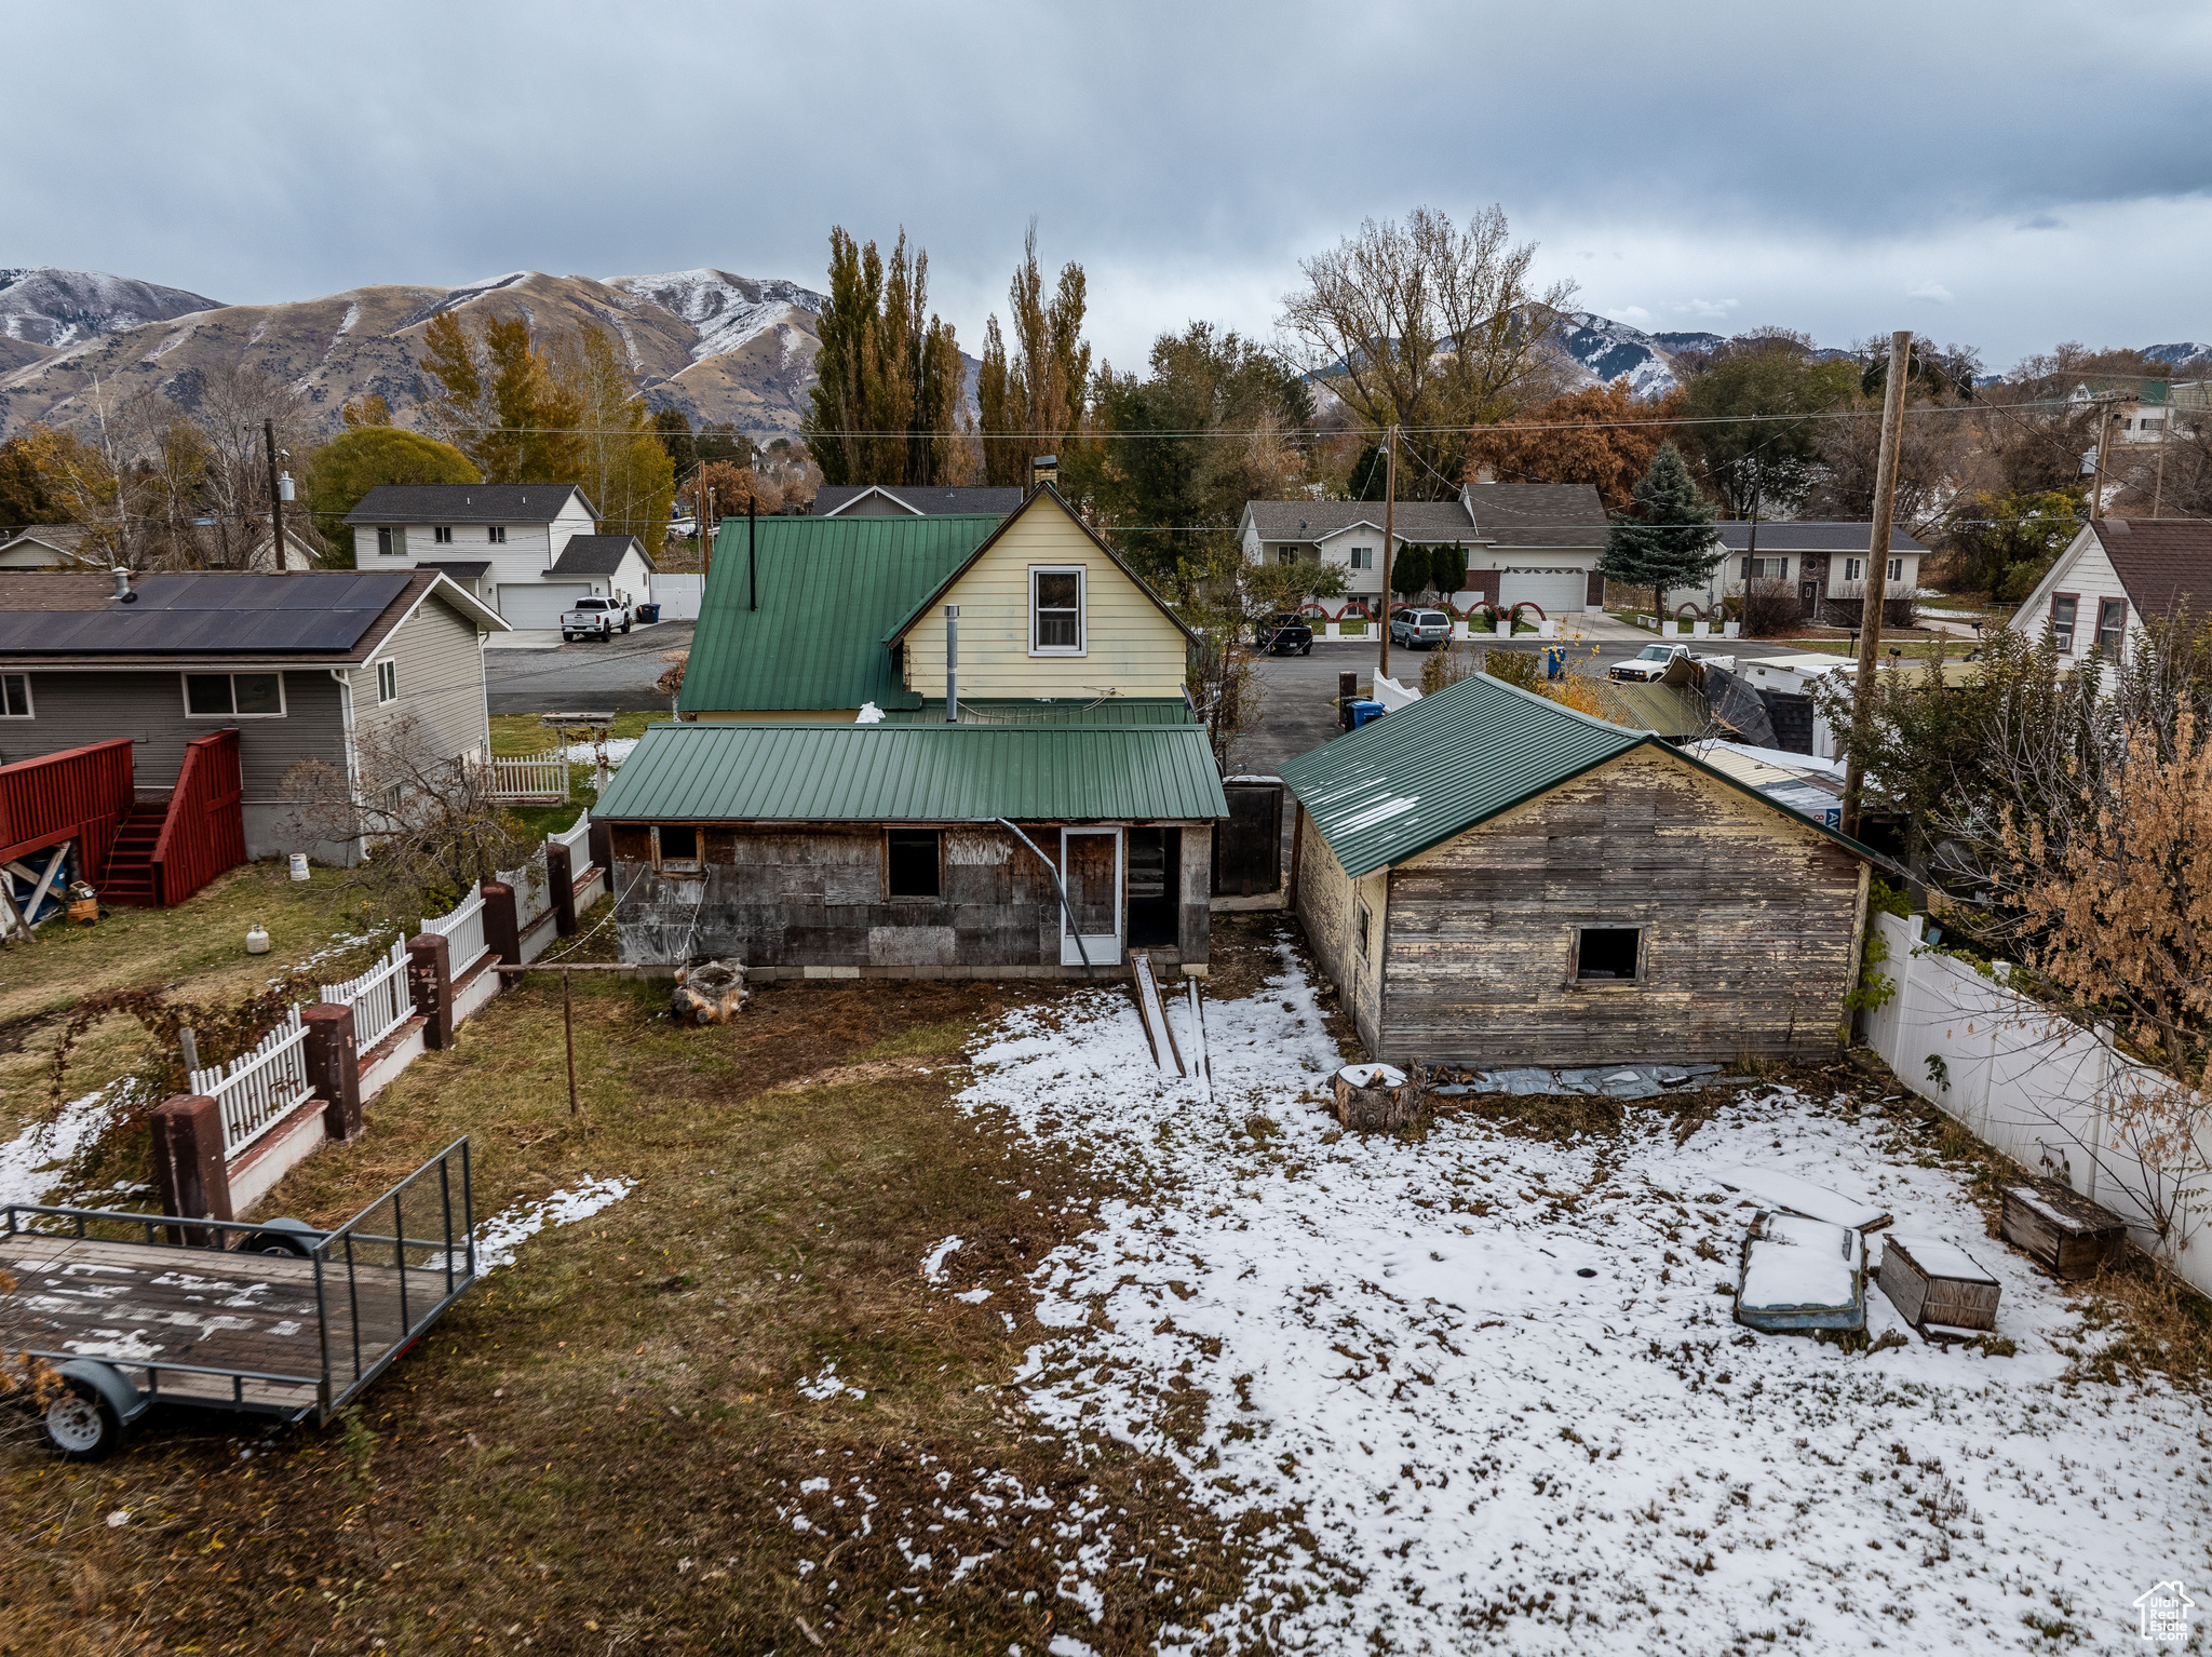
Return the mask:
M818 288L832 223L905 223L975 350L1037 215L1137 365L1192 316L1265 334L1363 217L1498 201L1650 330L2212 341L2201 0L18 0L4 33L0 263L226 301Z

